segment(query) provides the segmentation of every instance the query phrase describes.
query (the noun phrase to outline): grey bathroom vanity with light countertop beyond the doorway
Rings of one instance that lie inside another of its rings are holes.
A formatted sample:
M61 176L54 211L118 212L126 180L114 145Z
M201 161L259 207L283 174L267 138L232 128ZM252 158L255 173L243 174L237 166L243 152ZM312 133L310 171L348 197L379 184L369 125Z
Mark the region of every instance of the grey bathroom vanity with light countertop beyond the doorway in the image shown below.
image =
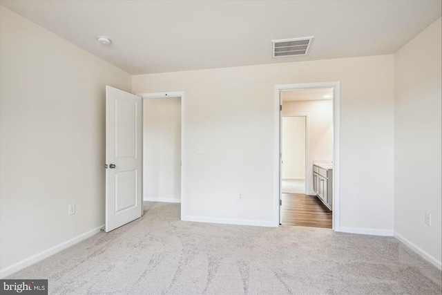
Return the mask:
M333 210L333 164L313 164L313 190L325 206Z

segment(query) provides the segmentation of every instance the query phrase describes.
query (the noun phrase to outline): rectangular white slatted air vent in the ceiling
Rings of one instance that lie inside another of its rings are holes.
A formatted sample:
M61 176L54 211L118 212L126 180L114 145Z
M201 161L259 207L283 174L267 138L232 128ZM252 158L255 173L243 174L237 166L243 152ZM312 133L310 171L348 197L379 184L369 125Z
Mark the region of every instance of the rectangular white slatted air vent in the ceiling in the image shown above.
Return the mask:
M294 38L294 39L273 40L271 41L272 55L273 57L291 57L295 55L307 55L309 53L313 39L314 36Z

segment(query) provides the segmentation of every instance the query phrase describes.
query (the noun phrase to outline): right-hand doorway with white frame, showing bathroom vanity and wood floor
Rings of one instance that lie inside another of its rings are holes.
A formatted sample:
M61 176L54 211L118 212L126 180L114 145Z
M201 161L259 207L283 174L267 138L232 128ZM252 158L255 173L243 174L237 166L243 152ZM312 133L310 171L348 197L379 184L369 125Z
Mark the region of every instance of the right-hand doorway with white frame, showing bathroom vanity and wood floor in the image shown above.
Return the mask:
M339 83L276 86L281 225L338 230Z

